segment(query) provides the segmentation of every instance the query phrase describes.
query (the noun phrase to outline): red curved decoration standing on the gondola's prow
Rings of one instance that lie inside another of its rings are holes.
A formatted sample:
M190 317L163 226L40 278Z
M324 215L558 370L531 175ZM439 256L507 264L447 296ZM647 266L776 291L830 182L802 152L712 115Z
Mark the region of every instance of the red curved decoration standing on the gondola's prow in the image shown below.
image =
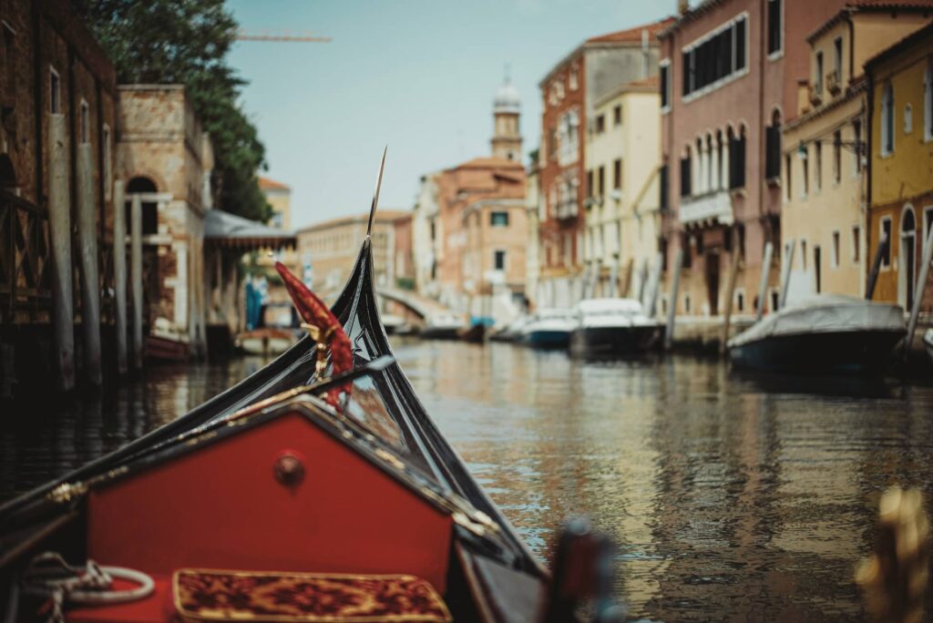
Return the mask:
M288 290L292 302L298 309L301 319L308 325L316 326L321 335L321 343L330 349L331 376L348 372L353 369L353 349L350 339L343 332L343 325L337 316L330 311L324 301L301 283L298 277L286 269L282 262L275 262L275 270L279 271L285 288ZM350 395L353 383L346 382L329 390L325 399L334 408L340 408L339 396L341 392Z

